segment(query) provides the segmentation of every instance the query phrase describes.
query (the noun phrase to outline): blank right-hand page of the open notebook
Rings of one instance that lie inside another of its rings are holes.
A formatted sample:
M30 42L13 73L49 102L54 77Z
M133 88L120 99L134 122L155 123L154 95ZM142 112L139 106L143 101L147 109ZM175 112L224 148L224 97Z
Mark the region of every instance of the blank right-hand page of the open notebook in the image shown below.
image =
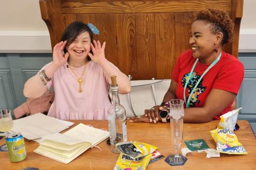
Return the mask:
M68 135L71 138L90 142L92 143L93 147L109 137L109 132L97 128L92 128L91 126L87 126L82 123L78 124L63 134Z

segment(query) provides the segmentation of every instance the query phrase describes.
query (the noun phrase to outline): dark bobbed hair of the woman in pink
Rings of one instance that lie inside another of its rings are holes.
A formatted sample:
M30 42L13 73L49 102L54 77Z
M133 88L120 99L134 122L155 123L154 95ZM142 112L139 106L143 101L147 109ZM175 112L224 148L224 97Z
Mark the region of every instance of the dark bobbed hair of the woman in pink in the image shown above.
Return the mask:
M80 22L80 21L75 21L72 22L68 25L68 27L64 30L62 33L60 41L65 41L67 40L67 45L63 49L65 53L67 53L67 47L73 43L73 41L76 39L77 36L81 35L83 32L89 32L89 36L91 39L91 43L93 41L93 32L92 30L87 26L87 24ZM92 51L90 51L92 53ZM91 58L87 56L87 61L91 61Z

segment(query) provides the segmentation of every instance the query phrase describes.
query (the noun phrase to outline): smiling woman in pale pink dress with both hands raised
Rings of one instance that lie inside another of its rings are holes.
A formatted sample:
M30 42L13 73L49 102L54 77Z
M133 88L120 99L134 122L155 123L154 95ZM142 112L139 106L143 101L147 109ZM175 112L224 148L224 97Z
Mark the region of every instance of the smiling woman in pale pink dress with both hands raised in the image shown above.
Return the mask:
M53 48L53 61L26 83L23 93L28 98L42 96L54 87L55 99L48 116L61 120L105 120L110 107L110 76L117 76L120 94L131 90L124 73L105 57L104 42L93 40L93 28L73 22Z

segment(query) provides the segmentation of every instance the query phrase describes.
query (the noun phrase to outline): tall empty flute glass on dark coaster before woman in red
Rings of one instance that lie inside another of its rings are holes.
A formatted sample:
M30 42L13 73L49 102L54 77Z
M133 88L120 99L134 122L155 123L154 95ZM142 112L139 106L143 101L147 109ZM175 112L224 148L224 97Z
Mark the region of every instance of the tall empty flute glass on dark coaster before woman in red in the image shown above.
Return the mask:
M183 156L179 155L179 147L183 140L183 116L184 116L184 101L181 99L173 99L170 104L170 124L171 124L171 140L175 146L175 155L170 156L173 162L182 162Z

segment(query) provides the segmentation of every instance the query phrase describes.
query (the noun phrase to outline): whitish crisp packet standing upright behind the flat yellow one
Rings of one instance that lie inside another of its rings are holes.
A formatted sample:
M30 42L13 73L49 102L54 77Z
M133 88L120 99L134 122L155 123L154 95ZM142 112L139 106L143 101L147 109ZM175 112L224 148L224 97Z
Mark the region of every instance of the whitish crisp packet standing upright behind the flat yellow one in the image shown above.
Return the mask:
M220 122L217 129L230 129L231 131L234 131L237 121L237 115L241 109L242 107L220 116Z

